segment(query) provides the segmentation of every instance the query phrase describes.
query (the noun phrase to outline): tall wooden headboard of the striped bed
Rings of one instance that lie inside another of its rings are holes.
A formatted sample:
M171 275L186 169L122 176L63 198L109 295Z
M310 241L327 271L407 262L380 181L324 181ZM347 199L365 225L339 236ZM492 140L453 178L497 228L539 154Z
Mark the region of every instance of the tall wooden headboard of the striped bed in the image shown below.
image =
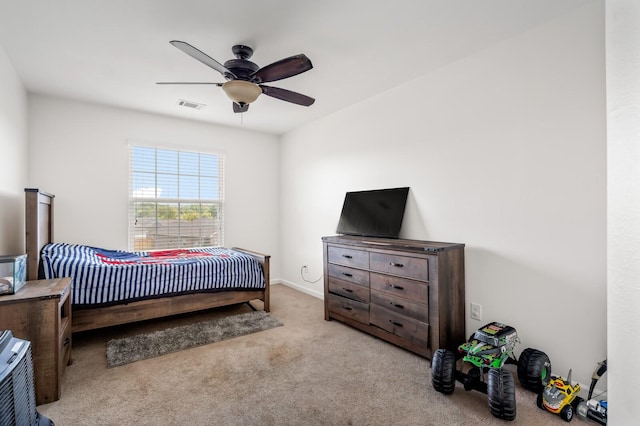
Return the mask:
M39 277L40 251L53 242L53 195L25 188L27 280Z

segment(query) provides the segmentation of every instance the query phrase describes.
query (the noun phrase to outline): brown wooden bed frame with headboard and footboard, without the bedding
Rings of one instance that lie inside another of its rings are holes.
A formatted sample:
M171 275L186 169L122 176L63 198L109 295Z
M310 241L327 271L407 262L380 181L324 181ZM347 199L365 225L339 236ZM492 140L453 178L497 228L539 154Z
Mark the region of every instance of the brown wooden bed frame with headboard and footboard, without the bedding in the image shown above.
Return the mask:
M25 189L27 279L38 279L40 251L53 239L54 196L34 188ZM262 266L265 288L261 290L194 293L141 300L121 305L78 309L71 315L72 332L93 330L112 325L127 324L203 309L260 300L269 312L269 255L233 248L253 256Z

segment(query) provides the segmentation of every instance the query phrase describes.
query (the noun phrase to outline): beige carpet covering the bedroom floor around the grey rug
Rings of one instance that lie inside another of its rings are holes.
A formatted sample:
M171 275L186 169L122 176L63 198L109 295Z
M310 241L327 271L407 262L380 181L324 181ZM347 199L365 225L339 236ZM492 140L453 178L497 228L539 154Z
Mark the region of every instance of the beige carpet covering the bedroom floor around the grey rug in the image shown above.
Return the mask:
M106 366L111 338L248 308L74 335L62 398L38 411L58 426L566 424L519 385L516 420L498 420L486 395L434 391L428 360L325 321L321 300L282 285L271 295L283 327L120 367Z

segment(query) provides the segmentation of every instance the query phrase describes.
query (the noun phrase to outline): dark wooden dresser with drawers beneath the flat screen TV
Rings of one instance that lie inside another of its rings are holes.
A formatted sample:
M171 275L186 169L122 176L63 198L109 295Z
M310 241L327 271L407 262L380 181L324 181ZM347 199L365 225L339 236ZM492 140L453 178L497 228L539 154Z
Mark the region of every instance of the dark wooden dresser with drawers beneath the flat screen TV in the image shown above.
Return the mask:
M464 244L323 237L324 317L431 358L465 341Z

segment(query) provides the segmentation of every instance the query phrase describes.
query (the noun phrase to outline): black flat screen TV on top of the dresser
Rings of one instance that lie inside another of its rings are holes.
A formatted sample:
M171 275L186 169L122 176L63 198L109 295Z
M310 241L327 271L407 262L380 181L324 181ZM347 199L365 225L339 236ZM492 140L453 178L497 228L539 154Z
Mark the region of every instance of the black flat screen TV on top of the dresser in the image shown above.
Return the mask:
M347 192L338 234L398 238L409 188Z

